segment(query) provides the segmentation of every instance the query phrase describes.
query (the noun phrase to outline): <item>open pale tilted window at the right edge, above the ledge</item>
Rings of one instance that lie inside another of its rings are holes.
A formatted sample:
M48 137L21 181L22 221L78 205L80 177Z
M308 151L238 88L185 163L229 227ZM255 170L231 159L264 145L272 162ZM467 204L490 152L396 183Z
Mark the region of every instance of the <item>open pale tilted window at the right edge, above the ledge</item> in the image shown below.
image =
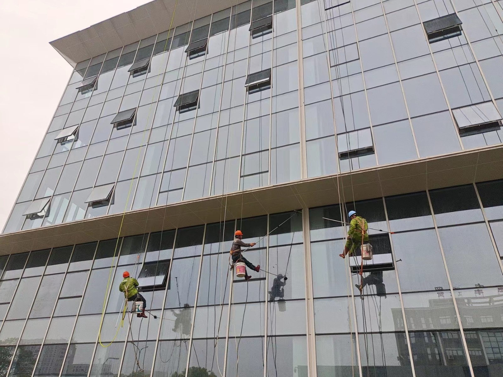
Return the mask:
M501 127L501 115L492 102L470 105L452 111L461 136L497 131Z

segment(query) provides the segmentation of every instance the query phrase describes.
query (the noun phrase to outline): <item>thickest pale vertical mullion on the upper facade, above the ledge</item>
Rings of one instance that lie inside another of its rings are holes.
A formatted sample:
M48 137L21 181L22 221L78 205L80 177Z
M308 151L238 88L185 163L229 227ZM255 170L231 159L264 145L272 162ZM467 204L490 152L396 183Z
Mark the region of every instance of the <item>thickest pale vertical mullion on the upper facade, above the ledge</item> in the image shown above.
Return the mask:
M307 178L307 141L306 141L306 120L304 107L304 62L303 62L303 46L302 46L302 19L301 19L301 0L295 0L296 22L297 22L297 71L299 85L299 142L300 142L300 176ZM323 7L324 8L324 7ZM274 40L273 40L274 48ZM328 67L330 68L330 67ZM330 70L328 70L330 72ZM330 81L330 90L332 83ZM333 98L333 96L332 96ZM332 104L333 109L333 104ZM333 110L332 110L333 112ZM308 368L309 369L309 368Z

